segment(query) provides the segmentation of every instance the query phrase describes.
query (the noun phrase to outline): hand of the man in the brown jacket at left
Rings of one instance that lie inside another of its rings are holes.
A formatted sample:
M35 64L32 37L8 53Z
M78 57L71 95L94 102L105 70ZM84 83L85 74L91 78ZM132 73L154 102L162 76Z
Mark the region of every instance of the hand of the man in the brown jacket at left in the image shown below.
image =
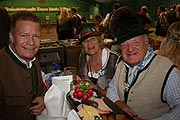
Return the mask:
M29 110L31 111L31 113L33 115L40 115L42 113L42 111L45 108L45 104L44 104L44 97L36 97L33 101L32 104L34 106L30 107Z

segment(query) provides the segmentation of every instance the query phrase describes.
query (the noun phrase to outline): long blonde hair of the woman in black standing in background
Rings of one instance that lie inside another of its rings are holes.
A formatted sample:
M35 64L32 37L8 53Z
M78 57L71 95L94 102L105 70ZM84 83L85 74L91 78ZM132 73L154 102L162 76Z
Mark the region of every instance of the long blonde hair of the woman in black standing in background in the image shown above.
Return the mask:
M61 13L58 17L58 23L59 25L63 25L69 20L69 13L68 9L66 7L61 7Z

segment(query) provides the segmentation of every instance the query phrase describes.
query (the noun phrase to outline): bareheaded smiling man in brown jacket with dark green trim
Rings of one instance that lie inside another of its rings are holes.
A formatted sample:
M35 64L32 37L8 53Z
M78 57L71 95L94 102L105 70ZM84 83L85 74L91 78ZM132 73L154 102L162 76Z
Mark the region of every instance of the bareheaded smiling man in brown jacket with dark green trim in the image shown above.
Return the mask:
M0 119L35 120L44 105L44 87L36 54L40 19L30 11L11 16L9 46L0 50Z

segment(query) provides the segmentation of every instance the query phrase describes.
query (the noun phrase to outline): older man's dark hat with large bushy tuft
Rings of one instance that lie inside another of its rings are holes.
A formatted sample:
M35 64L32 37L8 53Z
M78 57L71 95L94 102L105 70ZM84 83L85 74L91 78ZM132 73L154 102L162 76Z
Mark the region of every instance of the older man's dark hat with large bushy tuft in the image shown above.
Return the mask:
M129 7L120 7L113 13L109 29L115 38L113 44L121 44L136 36L147 34L137 14Z

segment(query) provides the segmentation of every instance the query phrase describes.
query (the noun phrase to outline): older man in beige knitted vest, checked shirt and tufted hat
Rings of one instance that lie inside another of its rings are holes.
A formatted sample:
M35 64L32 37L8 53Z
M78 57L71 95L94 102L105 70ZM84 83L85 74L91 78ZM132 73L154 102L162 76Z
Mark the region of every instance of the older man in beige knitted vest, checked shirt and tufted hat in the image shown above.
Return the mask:
M179 120L180 71L168 58L154 54L137 14L129 7L119 8L110 31L123 60L106 96L135 120Z

